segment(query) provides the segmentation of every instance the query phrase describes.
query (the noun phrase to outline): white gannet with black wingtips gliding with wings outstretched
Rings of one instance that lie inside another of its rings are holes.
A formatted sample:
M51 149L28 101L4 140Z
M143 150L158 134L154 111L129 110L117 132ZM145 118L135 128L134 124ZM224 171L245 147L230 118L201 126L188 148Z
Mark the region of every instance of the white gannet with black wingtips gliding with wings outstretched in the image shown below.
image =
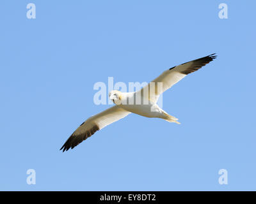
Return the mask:
M168 122L180 124L177 121L178 119L169 115L157 105L159 95L170 89L170 87L189 73L202 68L202 66L205 66L205 64L208 64L215 58L216 55L211 54L180 64L179 66L174 66L164 71L159 77L137 92L120 92L116 90L109 92L109 98L113 100L115 106L84 121L68 138L61 149L63 149L63 152L70 149L70 147L73 149L96 131L124 118L129 113L136 113L144 117L160 118Z

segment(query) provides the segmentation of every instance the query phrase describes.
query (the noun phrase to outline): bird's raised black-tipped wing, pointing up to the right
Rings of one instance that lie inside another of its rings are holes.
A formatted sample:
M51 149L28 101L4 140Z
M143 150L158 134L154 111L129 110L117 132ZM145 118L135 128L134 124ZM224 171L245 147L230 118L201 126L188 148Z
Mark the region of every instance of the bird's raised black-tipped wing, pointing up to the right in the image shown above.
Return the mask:
M215 58L216 55L211 54L206 57L202 57L193 61L180 64L178 66L174 66L173 68L164 71L159 77L155 78L152 81L154 83L150 82L140 91L138 91L138 93L143 96L146 92L148 99L156 103L159 95L161 95L164 91L170 89L170 87L179 82L179 80L181 80L182 78L186 77L186 75L202 68L202 66L205 66L205 64L208 64Z

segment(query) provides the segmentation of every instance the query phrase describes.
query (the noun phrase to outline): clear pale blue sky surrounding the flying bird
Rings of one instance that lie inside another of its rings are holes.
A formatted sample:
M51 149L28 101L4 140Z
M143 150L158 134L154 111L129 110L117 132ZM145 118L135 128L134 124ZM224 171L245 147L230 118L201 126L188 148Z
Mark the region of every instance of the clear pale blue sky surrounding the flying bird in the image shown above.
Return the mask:
M255 6L1 0L0 190L256 190ZM150 82L214 52L217 59L164 92L163 109L181 125L131 114L59 150L111 106L93 103L95 83ZM26 182L29 169L35 185ZM221 169L227 185L218 182Z

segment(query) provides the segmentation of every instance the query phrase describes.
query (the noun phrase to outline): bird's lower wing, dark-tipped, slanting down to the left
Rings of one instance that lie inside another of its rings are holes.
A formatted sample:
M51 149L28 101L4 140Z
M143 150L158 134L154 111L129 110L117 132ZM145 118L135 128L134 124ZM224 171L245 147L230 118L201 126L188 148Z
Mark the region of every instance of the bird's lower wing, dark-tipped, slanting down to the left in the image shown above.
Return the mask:
M118 106L113 106L104 110L104 112L93 115L89 119L83 122L76 131L68 138L67 142L61 147L63 152L65 150L73 149L79 143L86 140L88 137L92 136L96 131L108 126L109 124L116 122L127 116L131 112L127 112L123 108ZM60 150L61 150L60 149Z

